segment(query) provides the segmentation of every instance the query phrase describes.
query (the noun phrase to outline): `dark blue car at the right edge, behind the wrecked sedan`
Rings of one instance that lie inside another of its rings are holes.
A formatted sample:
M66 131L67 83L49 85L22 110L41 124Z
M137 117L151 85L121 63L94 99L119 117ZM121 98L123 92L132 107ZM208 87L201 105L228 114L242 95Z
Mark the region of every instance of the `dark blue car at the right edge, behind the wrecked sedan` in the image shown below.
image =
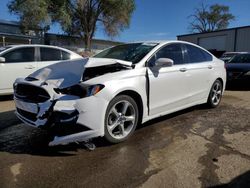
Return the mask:
M227 79L247 79L250 78L250 53L234 56L227 64Z

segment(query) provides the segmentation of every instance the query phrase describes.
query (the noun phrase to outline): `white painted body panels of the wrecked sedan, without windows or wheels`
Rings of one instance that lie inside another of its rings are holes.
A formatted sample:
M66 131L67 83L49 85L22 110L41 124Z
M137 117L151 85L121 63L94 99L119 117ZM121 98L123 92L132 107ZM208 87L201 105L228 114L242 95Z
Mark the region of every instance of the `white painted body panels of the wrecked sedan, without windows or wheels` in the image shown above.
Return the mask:
M73 96L57 94L53 88L63 88L73 85L79 79L77 77L81 76L81 71L83 72L86 67L97 66L98 61L100 64L104 65L115 64L117 63L117 60L90 58L75 61L74 63L72 62L71 73L75 73L72 77L73 79L64 79L67 77L64 75L64 71L66 74L69 67L66 66L68 65L67 63L59 63L54 65L54 67L48 67L48 70L45 71L50 72L49 70L51 70L51 77L47 75L42 78L41 75L43 75L43 71L41 70L33 75L34 77L39 78L38 81L30 82L24 79L17 79L16 84L24 83L42 87L50 94L50 101L57 100L53 107L53 111L71 113L74 110L77 110L79 113L77 123L85 125L90 129L76 134L55 137L54 140L50 142L50 145L67 144L75 141L85 141L93 137L104 136L105 113L108 104L121 92L133 91L140 96L143 109L142 123L144 123L156 117L194 105L206 103L210 89L216 79L221 79L223 81L224 91L226 84L224 62L214 56L210 62L173 65L171 67L162 67L160 69L146 66L147 60L156 51L173 42L185 43L180 41L160 42L159 45L153 48L143 59L141 59L133 69L107 73L85 81L84 83L88 85L102 84L105 86L104 89L94 96L74 98ZM120 61L120 63L129 65L129 62ZM186 69L185 72L180 71L183 68ZM58 76L53 78L53 69L60 70L61 76L58 74ZM146 88L147 79L149 93L147 93ZM44 81L46 81L48 85L42 85ZM42 104L35 104L38 105L40 109L37 117L40 117L48 110L51 106L50 101ZM26 102L23 102L20 105L19 102L16 102L16 105L19 108L32 111L33 105L25 103ZM39 118L37 121L31 121L18 112L17 116L26 124L35 127L42 126L47 121L46 119L40 120Z

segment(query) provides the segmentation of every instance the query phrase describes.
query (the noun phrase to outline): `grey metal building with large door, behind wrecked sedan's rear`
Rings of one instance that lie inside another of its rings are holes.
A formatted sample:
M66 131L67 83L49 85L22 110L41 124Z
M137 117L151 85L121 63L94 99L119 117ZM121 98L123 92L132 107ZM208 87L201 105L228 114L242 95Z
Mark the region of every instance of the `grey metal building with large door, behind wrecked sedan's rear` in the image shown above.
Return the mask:
M250 26L179 35L177 38L198 44L216 56L224 52L250 52Z

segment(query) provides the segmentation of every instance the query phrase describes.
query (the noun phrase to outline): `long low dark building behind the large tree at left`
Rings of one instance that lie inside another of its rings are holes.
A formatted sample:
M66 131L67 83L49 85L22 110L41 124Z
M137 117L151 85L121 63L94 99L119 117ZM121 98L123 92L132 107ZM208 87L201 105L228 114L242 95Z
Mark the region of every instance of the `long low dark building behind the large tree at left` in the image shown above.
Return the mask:
M67 48L81 53L84 41L79 37L44 33L41 29L23 31L18 22L0 20L0 46L12 44L47 44ZM121 44L109 40L92 40L92 52L97 53L105 48Z

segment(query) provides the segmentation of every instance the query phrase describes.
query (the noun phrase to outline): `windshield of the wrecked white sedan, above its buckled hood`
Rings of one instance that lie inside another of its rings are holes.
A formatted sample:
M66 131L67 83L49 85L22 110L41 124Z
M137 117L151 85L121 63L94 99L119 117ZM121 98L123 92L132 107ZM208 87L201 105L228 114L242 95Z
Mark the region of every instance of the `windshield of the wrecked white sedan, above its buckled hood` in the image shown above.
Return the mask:
M112 58L138 63L144 58L158 43L131 43L115 46L95 55L96 58Z

